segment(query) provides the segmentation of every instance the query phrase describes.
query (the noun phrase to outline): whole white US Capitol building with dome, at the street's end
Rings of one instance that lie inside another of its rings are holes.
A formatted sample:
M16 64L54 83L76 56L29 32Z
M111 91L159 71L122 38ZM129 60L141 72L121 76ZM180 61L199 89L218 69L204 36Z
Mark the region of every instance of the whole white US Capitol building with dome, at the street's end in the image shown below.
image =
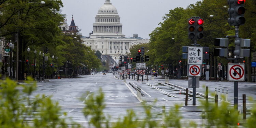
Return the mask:
M138 34L126 38L122 33L122 26L115 6L110 0L106 0L95 17L90 37L83 38L83 43L95 51L100 51L102 55L110 55L117 61L120 55L130 52L132 45L149 42L148 39L138 37Z

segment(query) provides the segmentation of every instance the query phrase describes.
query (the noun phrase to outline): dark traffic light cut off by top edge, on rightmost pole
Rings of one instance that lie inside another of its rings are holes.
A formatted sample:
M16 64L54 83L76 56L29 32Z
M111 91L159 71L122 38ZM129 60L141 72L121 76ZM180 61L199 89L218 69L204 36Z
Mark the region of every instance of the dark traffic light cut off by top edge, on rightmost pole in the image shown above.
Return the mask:
M245 23L244 8L245 0L228 0L229 6L228 9L228 23L229 25L238 26L243 25Z

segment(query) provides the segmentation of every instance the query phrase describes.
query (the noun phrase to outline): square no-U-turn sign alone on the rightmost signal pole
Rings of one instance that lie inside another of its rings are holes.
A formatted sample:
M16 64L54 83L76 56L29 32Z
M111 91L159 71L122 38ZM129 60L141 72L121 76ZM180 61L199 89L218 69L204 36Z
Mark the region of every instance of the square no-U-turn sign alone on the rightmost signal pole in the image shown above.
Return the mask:
M228 81L244 81L245 80L245 64L244 63L228 63Z

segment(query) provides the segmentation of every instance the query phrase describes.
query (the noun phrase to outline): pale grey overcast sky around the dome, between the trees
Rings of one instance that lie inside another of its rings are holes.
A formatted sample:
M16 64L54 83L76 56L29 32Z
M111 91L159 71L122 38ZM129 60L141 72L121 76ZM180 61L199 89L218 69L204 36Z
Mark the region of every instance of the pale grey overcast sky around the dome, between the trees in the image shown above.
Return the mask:
M123 24L123 34L132 37L139 34L139 37L149 39L150 34L158 23L162 22L162 16L169 13L169 10L176 7L186 8L199 0L110 0L120 16L120 23ZM95 16L105 0L62 0L64 7L62 14L66 14L68 25L74 15L75 25L82 29L83 36L89 36L93 30Z

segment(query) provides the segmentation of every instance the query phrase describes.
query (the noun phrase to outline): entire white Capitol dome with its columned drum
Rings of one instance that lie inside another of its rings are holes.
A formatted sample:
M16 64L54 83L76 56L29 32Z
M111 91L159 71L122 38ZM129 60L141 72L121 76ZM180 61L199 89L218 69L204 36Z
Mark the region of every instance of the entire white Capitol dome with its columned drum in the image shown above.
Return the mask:
M93 24L93 34L91 38L119 38L125 37L122 33L123 25L120 23L120 17L115 6L110 3L110 0L105 0L95 17Z

